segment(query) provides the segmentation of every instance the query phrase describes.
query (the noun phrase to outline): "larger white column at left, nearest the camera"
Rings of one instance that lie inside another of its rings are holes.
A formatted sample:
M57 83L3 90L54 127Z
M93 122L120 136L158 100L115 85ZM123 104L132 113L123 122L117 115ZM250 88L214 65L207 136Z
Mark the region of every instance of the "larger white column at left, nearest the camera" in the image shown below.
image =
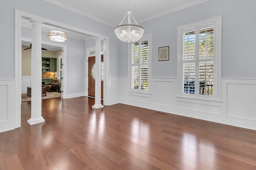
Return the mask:
M30 19L32 23L31 49L31 118L30 125L44 122L42 117L42 22Z

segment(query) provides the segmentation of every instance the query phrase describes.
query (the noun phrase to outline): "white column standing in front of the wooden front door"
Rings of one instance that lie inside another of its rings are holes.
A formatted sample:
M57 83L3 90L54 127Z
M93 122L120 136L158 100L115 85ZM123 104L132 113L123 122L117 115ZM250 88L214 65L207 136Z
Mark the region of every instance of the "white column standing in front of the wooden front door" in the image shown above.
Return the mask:
M101 39L95 38L96 40L96 51L95 51L95 104L92 106L94 109L102 108L101 104Z

